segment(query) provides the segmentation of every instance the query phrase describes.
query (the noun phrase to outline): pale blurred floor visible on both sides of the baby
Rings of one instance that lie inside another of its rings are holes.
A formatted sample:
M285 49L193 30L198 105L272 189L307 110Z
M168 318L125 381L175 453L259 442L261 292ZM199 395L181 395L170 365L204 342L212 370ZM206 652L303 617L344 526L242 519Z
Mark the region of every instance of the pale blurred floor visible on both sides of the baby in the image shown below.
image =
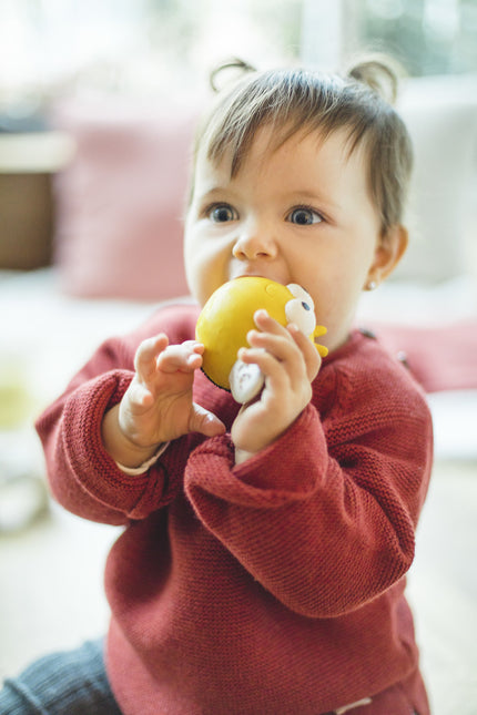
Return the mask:
M408 597L434 715L477 714L477 462L438 460ZM115 528L50 504L0 538L0 676L104 632L104 559Z

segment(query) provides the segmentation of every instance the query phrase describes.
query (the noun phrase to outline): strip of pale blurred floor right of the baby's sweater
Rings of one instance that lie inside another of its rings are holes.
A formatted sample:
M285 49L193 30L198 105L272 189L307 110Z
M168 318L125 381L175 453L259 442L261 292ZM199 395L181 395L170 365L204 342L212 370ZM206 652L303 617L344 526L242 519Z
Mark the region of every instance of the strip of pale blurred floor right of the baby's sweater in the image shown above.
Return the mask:
M477 462L438 461L408 597L434 715L477 715Z

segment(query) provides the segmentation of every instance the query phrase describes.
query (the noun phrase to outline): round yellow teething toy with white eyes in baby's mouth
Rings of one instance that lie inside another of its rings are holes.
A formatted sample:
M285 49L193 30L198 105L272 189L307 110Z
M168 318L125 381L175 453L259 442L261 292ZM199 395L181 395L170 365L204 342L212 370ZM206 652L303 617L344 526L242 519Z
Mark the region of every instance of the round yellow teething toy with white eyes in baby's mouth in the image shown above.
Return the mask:
M327 348L315 343L326 328L316 325L313 299L301 286L256 276L224 283L204 305L195 337L205 347L203 371L215 385L231 390L238 402L252 399L263 386L257 366L237 360L238 348L247 346L246 335L255 328L253 316L260 308L283 326L295 323L319 355L327 355Z

